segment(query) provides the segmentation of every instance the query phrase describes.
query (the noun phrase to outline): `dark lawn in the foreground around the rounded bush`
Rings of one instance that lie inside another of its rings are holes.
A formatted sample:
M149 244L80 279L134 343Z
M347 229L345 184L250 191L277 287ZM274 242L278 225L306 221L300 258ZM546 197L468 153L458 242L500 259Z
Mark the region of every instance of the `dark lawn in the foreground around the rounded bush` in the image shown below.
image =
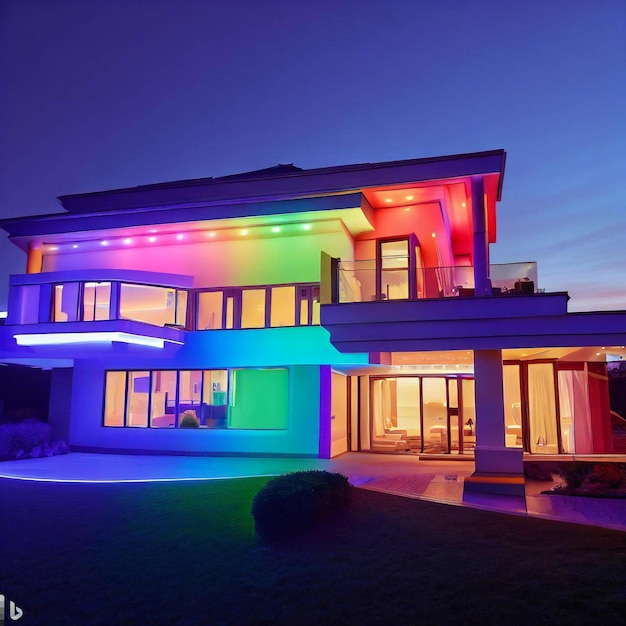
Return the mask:
M267 479L0 481L0 593L46 624L622 624L626 534L355 490L279 546Z

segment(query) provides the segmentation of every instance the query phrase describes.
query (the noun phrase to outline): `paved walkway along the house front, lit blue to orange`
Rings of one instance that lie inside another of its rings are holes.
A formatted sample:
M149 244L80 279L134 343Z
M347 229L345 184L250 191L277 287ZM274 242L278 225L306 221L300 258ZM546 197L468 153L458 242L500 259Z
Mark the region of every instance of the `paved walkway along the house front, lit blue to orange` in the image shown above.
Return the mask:
M456 506L626 531L626 500L544 495L550 483L526 482L526 497L463 494L472 461L349 452L336 459L184 457L73 452L5 461L0 478L62 482L153 482L275 476L306 469L340 472L365 489Z

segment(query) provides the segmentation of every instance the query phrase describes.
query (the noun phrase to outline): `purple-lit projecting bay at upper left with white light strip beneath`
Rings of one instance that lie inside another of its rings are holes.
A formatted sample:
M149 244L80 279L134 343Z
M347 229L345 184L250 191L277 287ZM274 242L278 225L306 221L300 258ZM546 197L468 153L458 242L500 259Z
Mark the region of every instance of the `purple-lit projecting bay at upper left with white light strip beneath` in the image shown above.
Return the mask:
M123 344L171 351L184 343L189 287L189 277L127 270L12 276L3 334L48 356L80 354L81 345L92 354Z

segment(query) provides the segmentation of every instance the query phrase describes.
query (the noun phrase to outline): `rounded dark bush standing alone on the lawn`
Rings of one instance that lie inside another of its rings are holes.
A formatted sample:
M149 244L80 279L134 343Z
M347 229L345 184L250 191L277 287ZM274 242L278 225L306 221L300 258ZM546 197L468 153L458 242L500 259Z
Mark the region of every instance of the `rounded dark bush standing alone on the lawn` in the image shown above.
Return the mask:
M310 470L270 480L254 497L257 534L275 541L296 535L346 507L352 486L343 474Z

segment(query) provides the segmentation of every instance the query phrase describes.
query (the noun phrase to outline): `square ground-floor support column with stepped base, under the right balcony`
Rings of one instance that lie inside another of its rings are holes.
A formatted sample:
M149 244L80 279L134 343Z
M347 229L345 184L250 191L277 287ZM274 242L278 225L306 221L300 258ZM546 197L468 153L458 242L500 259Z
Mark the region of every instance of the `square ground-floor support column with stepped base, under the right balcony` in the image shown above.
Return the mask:
M475 350L475 472L466 492L524 495L523 452L505 446L503 384L502 350Z

